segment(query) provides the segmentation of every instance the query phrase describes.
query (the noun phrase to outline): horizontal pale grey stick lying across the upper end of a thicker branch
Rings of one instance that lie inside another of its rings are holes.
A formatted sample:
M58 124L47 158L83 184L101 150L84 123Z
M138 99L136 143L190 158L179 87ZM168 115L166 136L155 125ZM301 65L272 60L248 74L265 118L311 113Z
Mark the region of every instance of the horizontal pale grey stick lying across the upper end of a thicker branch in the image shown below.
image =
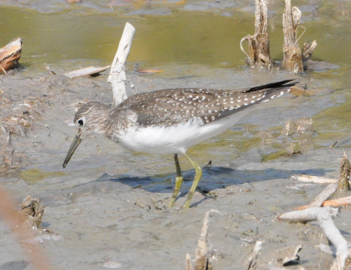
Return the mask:
M284 213L282 215L279 215L277 217L278 220L285 220L289 222L300 222L300 223L307 223L311 221L315 221L318 219L319 212L321 210L325 209L330 213L332 217L335 217L339 215L340 210L338 208L332 208L332 207L310 207L304 210L296 210L296 211L291 211Z

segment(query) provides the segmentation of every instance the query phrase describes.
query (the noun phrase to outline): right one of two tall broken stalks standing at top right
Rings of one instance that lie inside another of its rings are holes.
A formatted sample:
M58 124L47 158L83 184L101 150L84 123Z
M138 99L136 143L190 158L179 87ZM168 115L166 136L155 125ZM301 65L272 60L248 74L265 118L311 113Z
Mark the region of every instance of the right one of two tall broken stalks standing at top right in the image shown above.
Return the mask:
M283 62L282 67L290 72L299 73L304 70L302 53L298 44L297 25L300 22L301 11L297 7L291 8L290 0L285 0L285 13L283 14Z

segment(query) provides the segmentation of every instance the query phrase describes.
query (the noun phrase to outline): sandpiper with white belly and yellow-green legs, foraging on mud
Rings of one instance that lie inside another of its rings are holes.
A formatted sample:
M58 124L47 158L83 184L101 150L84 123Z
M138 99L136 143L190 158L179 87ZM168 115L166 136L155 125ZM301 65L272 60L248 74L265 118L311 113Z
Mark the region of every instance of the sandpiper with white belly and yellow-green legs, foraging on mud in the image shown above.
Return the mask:
M184 204L184 208L189 208L202 169L186 150L229 129L249 111L247 108L290 92L291 86L296 84L287 84L290 81L237 90L159 90L135 94L115 107L89 102L75 114L77 136L63 167L89 134L105 136L138 152L173 154L177 177L168 205L171 207L183 182L177 155L182 153L195 169L194 181Z

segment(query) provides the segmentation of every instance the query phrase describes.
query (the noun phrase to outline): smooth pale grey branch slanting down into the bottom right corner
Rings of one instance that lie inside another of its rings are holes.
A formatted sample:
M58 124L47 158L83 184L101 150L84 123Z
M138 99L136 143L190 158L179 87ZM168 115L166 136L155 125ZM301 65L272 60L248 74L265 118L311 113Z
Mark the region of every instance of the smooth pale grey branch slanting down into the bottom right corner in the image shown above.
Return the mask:
M319 212L318 222L326 237L336 247L336 258L333 262L331 270L344 269L346 260L350 256L346 239L334 225L330 212L328 212L326 208L322 208L322 210Z

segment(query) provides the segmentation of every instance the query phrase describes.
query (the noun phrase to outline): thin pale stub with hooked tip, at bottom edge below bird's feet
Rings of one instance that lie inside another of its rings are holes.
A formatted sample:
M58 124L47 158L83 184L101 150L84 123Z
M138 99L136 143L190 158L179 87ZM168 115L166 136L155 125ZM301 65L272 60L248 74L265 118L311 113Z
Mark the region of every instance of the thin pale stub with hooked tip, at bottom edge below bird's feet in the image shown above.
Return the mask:
M212 261L214 250L210 241L208 241L208 223L210 222L211 213L220 213L217 210L208 210L205 214L204 225L201 229L200 238L198 241L198 247L195 251L195 259L192 261L190 254L186 254L186 270L212 270Z

